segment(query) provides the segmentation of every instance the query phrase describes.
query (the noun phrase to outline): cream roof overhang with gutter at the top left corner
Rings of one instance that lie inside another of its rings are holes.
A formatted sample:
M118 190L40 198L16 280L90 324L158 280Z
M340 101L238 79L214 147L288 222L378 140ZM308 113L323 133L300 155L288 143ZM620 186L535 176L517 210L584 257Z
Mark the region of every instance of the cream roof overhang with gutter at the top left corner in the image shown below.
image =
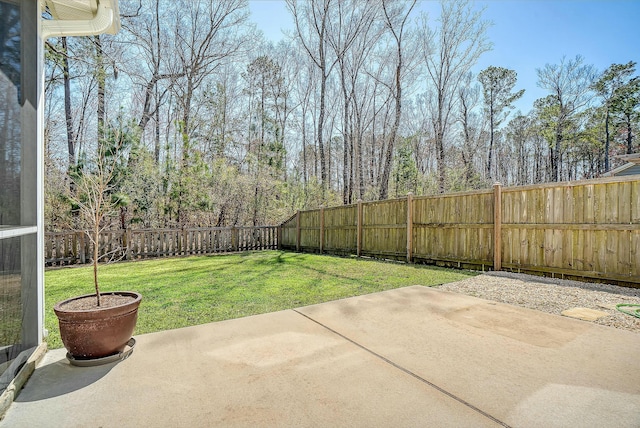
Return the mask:
M42 38L116 34L118 0L43 0L53 19L42 20Z

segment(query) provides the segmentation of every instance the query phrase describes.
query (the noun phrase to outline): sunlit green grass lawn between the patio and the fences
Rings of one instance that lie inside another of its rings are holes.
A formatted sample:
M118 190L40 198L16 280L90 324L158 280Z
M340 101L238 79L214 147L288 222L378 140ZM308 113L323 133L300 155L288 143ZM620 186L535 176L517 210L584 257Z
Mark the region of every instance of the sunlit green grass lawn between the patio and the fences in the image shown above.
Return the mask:
M100 290L142 294L136 334L296 308L475 275L421 265L265 251L100 266ZM49 348L62 347L53 305L88 294L90 266L45 273Z

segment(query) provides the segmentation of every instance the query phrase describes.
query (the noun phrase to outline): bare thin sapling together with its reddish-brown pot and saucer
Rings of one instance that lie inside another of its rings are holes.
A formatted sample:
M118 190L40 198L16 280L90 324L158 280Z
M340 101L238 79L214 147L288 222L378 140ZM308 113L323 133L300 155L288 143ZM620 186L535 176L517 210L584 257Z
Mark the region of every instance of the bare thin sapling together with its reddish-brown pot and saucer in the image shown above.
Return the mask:
M128 135L122 129L107 130L106 137L98 143L96 156L70 173L69 200L87 229L93 264L92 293L54 306L67 358L74 365L123 359L135 345L132 334L142 296L134 291L101 292L98 276L98 262L113 261L124 254L118 245L115 250L106 251L108 243L101 237L126 199L116 190Z

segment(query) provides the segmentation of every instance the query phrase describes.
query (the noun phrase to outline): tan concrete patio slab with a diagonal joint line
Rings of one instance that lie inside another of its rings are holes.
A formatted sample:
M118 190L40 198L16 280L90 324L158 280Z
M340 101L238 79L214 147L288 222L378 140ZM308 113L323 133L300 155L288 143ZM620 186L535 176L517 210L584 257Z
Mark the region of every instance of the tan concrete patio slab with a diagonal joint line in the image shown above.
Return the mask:
M638 427L640 336L421 286L47 353L7 427Z

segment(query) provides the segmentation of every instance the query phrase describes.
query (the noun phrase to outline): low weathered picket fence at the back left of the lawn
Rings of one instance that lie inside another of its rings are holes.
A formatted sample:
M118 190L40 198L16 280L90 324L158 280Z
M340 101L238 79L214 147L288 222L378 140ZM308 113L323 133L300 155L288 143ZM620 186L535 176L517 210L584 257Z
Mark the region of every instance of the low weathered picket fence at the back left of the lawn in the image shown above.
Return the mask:
M141 229L100 234L100 256L135 260L278 248L278 227ZM91 242L84 231L45 233L45 264L91 262Z

